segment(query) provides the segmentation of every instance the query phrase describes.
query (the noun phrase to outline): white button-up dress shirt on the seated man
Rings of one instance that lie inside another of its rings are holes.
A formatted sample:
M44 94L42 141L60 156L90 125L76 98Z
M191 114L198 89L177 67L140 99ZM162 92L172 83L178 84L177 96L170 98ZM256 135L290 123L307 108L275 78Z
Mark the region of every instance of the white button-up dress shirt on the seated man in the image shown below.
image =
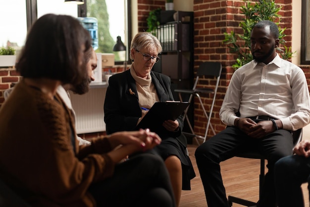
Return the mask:
M310 96L304 71L276 57L268 64L250 63L230 80L219 116L228 126L237 118L258 115L281 120L283 129L298 130L310 123Z

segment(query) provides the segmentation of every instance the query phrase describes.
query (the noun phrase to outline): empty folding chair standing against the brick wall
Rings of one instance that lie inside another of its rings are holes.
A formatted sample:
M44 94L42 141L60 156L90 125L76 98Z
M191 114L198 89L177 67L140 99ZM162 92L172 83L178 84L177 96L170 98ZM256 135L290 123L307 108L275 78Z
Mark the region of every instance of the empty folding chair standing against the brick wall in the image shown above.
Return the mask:
M191 103L191 101L193 100L193 96L197 96L198 97L198 100L201 104L201 107L204 111L204 114L207 118L207 127L206 127L206 131L205 131L205 136L199 136L199 135L196 135L194 133L194 130L193 130L193 127L190 123L190 120L188 118L188 115L187 115L187 112L188 112L188 108L184 111L184 117L183 119L187 121L188 125L189 125L189 128L191 130L191 133L186 133L186 132L183 132L185 135L189 135L189 136L193 136L197 143L199 144L199 141L197 138L200 138L200 139L203 139L203 142L206 141L206 138L207 138L207 132L208 132L208 128L210 127L213 134L215 135L215 131L212 127L212 125L210 124L210 121L211 121L211 115L212 115L212 110L213 110L213 106L214 106L214 103L215 103L215 97L216 97L216 91L217 91L217 87L218 87L218 84L219 84L219 79L220 79L220 75L221 75L221 71L222 71L222 65L221 63L219 62L204 62L202 63L198 70L197 70L197 77L196 77L196 80L195 80L195 83L194 83L194 86L193 86L193 89L175 89L174 91L177 92L179 94L179 98L180 98L180 101L183 101L182 100L182 94L189 94L190 97L188 99L188 102ZM200 77L203 77L203 76L206 76L206 75L211 75L211 76L214 76L216 78L216 84L214 86L214 88L210 88L210 87L204 87L204 88L197 88L197 84L198 84L198 81L199 81L199 78ZM213 100L212 100L212 105L210 107L210 111L209 111L209 115L207 115L207 111L204 107L204 104L202 102L202 99L200 97L200 94L202 93L213 93Z

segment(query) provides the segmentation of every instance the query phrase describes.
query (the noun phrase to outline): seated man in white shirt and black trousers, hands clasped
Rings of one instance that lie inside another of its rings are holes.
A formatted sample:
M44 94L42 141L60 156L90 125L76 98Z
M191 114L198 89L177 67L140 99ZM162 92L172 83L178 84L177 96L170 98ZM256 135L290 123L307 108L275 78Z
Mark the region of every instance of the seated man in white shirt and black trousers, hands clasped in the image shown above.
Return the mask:
M279 57L279 30L271 21L251 32L253 61L237 69L219 115L227 128L200 145L195 153L208 207L230 207L222 183L221 161L240 149L257 147L268 157L268 173L258 207L276 207L274 164L292 154L292 131L310 123L305 73Z

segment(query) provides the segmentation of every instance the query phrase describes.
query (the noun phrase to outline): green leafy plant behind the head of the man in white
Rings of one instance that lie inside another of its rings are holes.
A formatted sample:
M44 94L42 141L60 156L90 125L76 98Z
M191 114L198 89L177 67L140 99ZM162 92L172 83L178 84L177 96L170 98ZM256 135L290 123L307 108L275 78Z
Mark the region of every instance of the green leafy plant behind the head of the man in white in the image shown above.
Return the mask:
M278 12L281 10L281 6L277 5L274 0L258 0L257 2L252 2L250 0L244 0L245 5L241 6L241 13L245 14L245 18L242 19L239 26L243 30L243 34L236 34L234 31L231 33L225 32L225 39L223 43L228 45L230 52L237 54L238 58L235 64L232 65L234 69L238 69L241 66L249 63L253 60L251 53L251 30L253 26L261 20L270 20L279 25L281 15ZM285 50L276 48L281 57L284 60L292 58L293 52L291 47L287 48L285 46L284 30L286 28L279 27L279 39L280 46L282 45Z

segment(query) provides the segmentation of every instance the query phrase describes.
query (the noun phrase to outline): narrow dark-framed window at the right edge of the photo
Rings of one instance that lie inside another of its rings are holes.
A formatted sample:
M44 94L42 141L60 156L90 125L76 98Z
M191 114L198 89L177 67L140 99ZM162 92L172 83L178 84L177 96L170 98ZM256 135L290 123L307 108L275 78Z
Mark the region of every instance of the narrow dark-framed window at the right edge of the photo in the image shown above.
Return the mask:
M301 64L310 65L310 2L302 1Z

